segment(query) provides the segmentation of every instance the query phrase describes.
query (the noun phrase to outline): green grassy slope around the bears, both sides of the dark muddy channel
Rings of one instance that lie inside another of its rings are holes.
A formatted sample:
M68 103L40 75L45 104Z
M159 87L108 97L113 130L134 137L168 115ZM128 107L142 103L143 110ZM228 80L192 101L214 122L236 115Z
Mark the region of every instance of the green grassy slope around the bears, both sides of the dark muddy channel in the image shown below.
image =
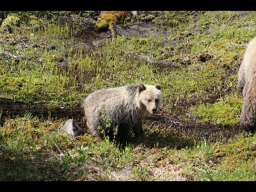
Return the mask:
M66 47L67 42L76 43L67 25L49 24L38 32L21 26L14 35L0 34L0 51L20 56L15 63L1 55L0 96L80 106L86 95L101 88L160 83L168 115L188 120L180 114L190 113L198 121L236 125L242 102L236 93L237 70L245 45L256 35L255 16L254 12L243 17L238 12L191 16L165 12L162 27L168 29L172 43L161 45L163 37L154 34L117 36L85 54ZM39 46L13 45L19 30L30 45ZM49 44L56 49L47 50ZM166 59L180 68L162 70L139 63L122 50ZM65 55L63 70L59 61ZM87 134L72 138L58 132L64 119L27 113L3 121L0 180L255 180L255 135L209 143L188 134L175 137L172 127L164 124L145 124L146 138L119 150L108 139L97 141Z

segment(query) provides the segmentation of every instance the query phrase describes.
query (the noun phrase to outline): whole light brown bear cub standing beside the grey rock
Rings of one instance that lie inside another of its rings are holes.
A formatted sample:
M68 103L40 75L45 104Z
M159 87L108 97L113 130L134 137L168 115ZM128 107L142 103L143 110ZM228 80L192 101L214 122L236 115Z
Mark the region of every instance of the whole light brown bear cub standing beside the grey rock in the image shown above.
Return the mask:
M88 131L93 136L102 138L99 127L106 132L108 121L109 137L112 137L114 127L118 127L117 139L123 142L127 139L130 129L135 136L143 136L144 115L156 113L161 104L163 96L159 84L134 84L93 92L84 100L83 108ZM102 111L106 113L104 119Z

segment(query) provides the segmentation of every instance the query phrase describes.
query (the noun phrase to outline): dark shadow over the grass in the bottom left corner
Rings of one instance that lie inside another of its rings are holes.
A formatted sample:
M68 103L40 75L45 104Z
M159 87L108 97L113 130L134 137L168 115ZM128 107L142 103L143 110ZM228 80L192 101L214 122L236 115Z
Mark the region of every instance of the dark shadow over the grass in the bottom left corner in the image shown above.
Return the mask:
M67 174L70 167L50 154L25 154L0 145L0 180L70 180L70 174Z

